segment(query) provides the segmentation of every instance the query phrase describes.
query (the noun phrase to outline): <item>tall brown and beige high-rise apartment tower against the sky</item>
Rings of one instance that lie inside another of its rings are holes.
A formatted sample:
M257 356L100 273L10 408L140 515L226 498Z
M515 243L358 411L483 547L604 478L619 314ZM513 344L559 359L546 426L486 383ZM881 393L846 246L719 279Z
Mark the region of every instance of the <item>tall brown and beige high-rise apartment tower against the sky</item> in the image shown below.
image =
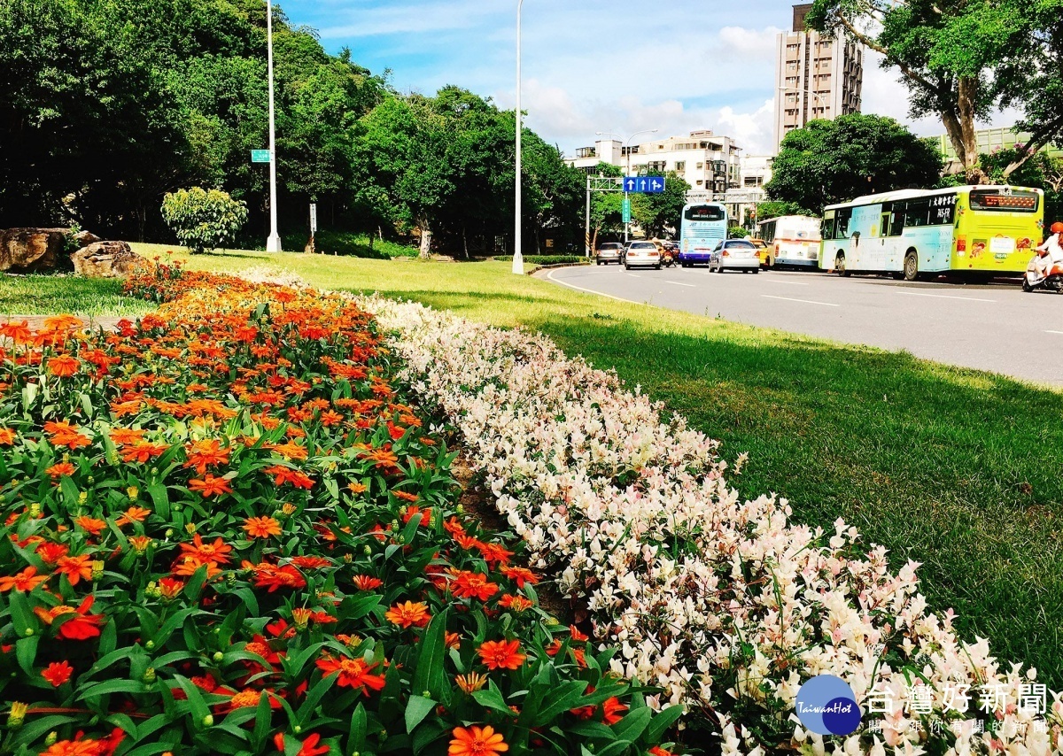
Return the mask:
M794 5L793 31L776 37L775 149L788 132L816 118L860 111L863 46L805 30L812 5Z

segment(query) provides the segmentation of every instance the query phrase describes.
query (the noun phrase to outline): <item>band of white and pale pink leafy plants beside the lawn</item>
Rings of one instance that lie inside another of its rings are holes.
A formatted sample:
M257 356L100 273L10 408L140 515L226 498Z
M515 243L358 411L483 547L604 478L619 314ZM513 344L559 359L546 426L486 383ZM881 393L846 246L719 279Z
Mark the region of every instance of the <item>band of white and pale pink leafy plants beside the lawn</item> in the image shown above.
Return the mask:
M663 688L654 707L687 704L714 748L824 753L794 706L804 681L832 673L870 715L836 739L845 753L1061 751L1059 694L957 638L916 564L891 572L843 521L825 533L784 500L742 501L710 440L541 336L362 304L394 330L421 401L460 429L534 566L620 646L613 671Z

